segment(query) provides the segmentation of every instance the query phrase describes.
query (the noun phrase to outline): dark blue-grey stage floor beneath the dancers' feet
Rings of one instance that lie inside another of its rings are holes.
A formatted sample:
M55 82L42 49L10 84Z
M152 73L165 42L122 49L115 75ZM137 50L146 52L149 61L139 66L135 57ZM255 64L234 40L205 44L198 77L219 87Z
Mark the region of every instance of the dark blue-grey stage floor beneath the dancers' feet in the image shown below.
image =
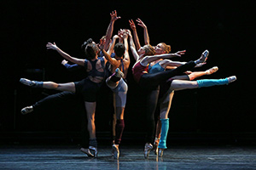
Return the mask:
M111 146L89 158L74 145L0 145L0 169L256 169L256 146L173 145L144 159L143 145L125 145L115 160Z

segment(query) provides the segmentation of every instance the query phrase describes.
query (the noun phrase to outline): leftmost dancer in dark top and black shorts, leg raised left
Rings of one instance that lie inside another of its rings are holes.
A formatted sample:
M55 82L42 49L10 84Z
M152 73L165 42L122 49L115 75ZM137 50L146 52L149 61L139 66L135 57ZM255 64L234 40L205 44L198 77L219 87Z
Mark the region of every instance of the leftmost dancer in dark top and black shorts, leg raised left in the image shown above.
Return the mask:
M84 151L88 156L97 156L97 142L96 142L96 127L95 127L95 110L96 110L96 95L102 86L102 82L105 78L105 65L107 59L98 58L98 52L100 49L96 43L89 39L84 44L84 53L87 59L77 59L69 54L66 54L58 48L55 43L48 42L46 47L48 49L56 50L64 59L67 59L75 64L83 65L85 71L88 72L88 77L84 78L80 82L67 82L67 83L55 83L55 82L37 82L30 81L26 78L21 78L20 82L30 86L32 88L48 88L60 91L69 91L75 94L80 94L84 99L84 106L88 119L88 131L90 134L89 149Z

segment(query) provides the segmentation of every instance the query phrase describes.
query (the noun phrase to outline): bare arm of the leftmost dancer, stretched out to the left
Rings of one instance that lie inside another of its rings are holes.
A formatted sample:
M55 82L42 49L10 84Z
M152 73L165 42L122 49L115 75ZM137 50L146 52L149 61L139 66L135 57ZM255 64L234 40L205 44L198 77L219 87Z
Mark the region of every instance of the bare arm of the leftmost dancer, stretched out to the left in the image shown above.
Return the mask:
M67 59L70 62L73 62L73 63L78 64L78 65L84 65L84 59L77 59L77 58L74 58L74 57L70 56L69 54L62 51L61 48L58 48L57 45L55 44L55 42L54 43L48 42L46 44L46 48L47 49L53 49L53 50L57 51L59 54L61 54L61 56L64 59Z

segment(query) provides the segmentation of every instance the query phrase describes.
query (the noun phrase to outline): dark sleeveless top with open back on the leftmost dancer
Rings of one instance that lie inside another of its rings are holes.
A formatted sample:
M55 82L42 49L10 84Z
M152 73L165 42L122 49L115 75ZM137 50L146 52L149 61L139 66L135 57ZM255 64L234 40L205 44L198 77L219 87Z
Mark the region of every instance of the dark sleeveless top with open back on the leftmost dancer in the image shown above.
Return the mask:
M102 65L102 69L103 69L102 72L96 70L96 62L98 60L101 60L101 65ZM105 78L105 73L106 73L105 60L102 57L99 57L98 59L95 59L94 61L85 59L84 60L85 70L87 70L88 62L90 62L90 65L91 65L91 70L88 72L88 77L103 77L103 78Z

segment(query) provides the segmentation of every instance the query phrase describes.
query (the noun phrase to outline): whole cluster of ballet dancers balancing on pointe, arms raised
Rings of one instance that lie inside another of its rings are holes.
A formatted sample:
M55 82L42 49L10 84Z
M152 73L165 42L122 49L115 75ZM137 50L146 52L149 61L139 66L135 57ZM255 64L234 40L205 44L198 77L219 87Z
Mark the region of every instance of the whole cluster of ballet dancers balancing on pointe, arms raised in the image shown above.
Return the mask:
M110 13L111 20L106 32L106 36L100 39L96 44L90 38L82 45L85 59L74 58L65 53L61 48L51 42L46 45L47 49L52 49L61 54L64 58L62 64L67 68L82 66L88 73L79 82L38 82L31 81L26 78L20 78L20 82L32 88L48 88L60 91L65 91L58 95L53 95L51 98L47 97L42 102L37 102L36 105L26 106L21 110L22 114L27 114L36 111L41 103L45 100L67 96L67 98L77 98L82 96L84 107L87 116L87 130L90 135L89 147L81 147L87 156L97 157L97 141L96 141L96 97L102 83L106 82L108 87L113 91L113 135L114 140L112 144L112 153L115 159L119 159L119 144L122 139L122 133L125 128L124 113L128 85L126 76L128 68L131 63L129 56L129 47L131 54L135 59L135 64L132 66L132 74L138 86L143 89L146 102L146 144L144 146L144 157L148 158L151 150L154 154L163 156L166 150L166 139L169 129L168 113L171 108L174 91L189 89L211 87L215 85L229 84L236 81L236 76L227 77L224 79L201 79L195 78L211 75L218 71L218 67L212 67L207 71L194 71L194 67L199 67L206 64L209 54L205 50L199 59L189 62L179 62L170 60L173 57L180 57L185 53L185 50L170 54L171 46L166 45L165 42L160 42L156 46L149 44L148 29L142 20L137 19L137 25L143 27L144 43L143 47L140 45L137 36L137 27L133 20L129 20L133 36L128 29L120 29L117 35L113 35L113 24L120 17L116 11ZM129 39L129 42L128 42ZM116 42L119 41L119 42ZM129 46L130 45L130 46ZM67 64L68 61L73 65ZM160 104L160 113L155 113L157 105ZM154 115L157 114L159 119L154 120Z

